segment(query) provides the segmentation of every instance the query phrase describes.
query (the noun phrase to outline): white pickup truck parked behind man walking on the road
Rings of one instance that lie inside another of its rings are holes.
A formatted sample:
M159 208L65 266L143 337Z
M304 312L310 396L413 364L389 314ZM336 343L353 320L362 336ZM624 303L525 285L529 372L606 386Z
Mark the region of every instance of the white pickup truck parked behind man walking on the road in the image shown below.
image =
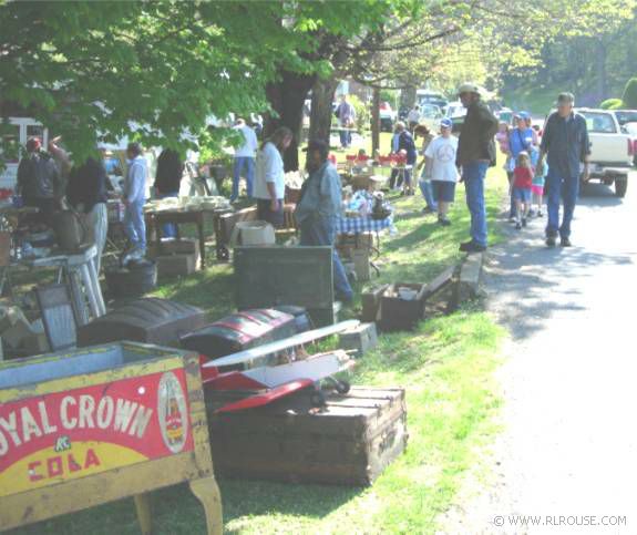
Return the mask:
M590 179L607 186L615 184L615 195L624 197L628 188L628 175L633 168L635 146L617 117L607 110L581 107L590 138Z

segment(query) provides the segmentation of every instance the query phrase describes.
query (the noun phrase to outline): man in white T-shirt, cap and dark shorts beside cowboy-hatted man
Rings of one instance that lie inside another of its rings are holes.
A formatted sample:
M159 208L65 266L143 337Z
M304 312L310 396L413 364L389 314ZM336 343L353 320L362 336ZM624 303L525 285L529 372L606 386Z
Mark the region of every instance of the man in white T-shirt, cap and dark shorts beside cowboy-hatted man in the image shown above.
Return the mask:
M455 166L458 137L451 135L452 126L450 119L443 119L440 122L440 135L424 152L427 174L431 178L433 197L438 204L438 223L443 226L451 225L446 214L455 196L455 183L459 176Z

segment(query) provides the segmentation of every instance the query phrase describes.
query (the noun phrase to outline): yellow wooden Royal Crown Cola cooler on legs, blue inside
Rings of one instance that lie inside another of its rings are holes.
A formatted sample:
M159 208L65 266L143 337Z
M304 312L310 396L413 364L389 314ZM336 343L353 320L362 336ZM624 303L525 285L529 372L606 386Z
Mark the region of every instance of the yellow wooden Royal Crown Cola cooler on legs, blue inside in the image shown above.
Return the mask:
M0 366L0 528L188 482L222 533L198 357L141 343Z

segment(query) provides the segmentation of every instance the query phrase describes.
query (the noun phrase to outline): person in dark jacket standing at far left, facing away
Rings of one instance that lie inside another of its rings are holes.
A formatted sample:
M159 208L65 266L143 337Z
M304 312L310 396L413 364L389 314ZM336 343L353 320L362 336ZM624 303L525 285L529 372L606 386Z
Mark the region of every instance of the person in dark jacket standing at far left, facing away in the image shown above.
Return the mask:
M18 194L22 195L24 206L40 209L38 219L51 225L51 217L59 208L62 184L60 172L50 154L42 151L39 137L27 141L27 156L18 166Z

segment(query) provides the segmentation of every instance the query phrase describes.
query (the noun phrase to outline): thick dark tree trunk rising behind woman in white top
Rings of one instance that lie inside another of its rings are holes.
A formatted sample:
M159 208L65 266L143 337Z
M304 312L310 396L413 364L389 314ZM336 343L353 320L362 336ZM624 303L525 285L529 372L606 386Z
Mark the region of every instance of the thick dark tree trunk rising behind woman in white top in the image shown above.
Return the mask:
M265 136L269 136L279 126L287 126L294 133L294 140L284 154L286 173L299 168L299 143L304 117L304 104L314 85L316 75L281 71L280 80L266 89L268 102L276 115L268 115L265 124Z

